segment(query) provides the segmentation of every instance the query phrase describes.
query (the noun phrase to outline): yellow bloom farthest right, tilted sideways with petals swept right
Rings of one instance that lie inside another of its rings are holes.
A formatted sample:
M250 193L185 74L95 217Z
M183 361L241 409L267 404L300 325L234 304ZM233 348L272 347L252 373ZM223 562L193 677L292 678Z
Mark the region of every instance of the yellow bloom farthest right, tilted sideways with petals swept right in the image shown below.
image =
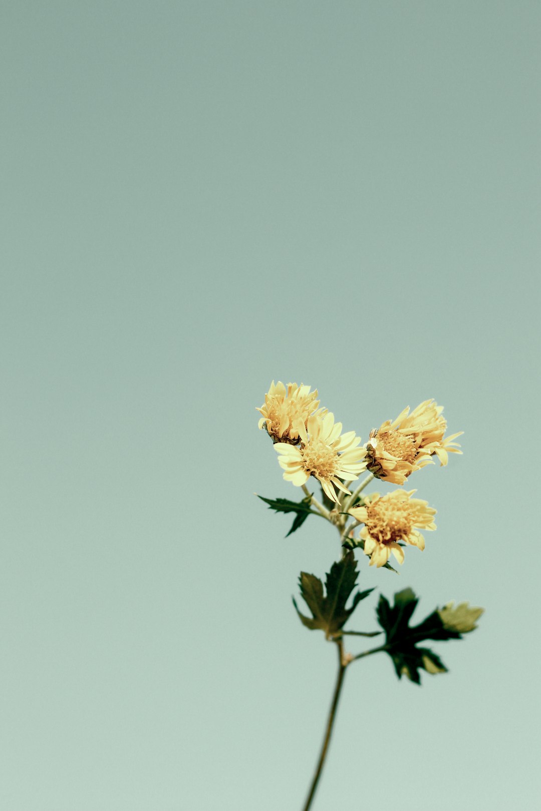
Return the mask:
M462 453L460 445L453 442L462 431L444 438L447 422L441 415L443 410L443 405L425 400L411 414L408 406L393 422L388 419L377 431L371 431L368 470L385 482L403 484L414 470L431 464L433 454L446 465L449 453Z

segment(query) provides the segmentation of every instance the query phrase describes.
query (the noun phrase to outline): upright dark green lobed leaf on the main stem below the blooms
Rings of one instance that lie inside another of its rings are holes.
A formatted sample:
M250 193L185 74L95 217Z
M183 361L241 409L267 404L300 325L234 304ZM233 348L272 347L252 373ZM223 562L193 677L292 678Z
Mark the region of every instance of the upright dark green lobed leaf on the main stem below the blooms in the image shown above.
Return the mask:
M301 572L298 583L303 600L311 611L311 617L304 616L298 610L295 600L293 604L303 625L312 631L324 631L328 639L335 636L353 614L358 603L373 591L373 589L358 591L354 594L350 608L346 608L357 575L357 561L353 552L348 552L346 557L331 566L325 580L326 594L319 577Z

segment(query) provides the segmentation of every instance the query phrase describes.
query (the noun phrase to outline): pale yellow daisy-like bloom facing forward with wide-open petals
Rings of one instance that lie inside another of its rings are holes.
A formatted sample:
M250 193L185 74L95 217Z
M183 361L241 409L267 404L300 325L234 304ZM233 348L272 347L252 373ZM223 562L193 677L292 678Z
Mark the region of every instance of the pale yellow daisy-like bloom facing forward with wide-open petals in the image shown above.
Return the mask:
M332 501L338 501L334 487L349 494L340 479L359 478L359 473L366 470L367 452L358 447L361 438L355 436L355 431L341 434L341 429L342 424L334 422L334 414L312 414L307 422L307 436L301 444L275 444L286 481L302 487L310 476L315 476Z

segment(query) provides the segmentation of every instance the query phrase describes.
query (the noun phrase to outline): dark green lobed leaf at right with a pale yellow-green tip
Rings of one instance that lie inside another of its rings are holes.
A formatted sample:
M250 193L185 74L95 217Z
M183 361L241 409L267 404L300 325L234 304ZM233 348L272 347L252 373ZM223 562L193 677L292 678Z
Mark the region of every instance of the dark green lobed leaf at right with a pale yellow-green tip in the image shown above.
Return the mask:
M432 611L419 625L410 625L418 602L419 598L411 589L403 589L394 595L393 606L381 595L376 611L378 622L385 632L385 649L393 659L398 678L407 676L416 684L421 683L419 670L427 673L447 672L441 659L429 648L419 647L419 642L427 639L461 639L462 633L474 629L474 620L483 611L479 608L466 611L466 603L453 609L453 603L448 603L440 611Z

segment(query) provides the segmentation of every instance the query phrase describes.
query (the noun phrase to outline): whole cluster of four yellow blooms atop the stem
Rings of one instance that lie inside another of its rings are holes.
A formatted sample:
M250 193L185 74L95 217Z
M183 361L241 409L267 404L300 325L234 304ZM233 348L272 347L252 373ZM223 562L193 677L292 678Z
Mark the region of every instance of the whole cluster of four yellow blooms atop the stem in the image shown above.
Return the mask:
M359 478L363 470L384 482L402 485L415 470L431 464L433 456L447 465L449 453L462 453L453 442L460 433L445 437L443 406L425 400L411 413L408 407L395 420L386 420L371 431L363 446L355 431L342 433L342 424L320 408L317 396L310 386L273 381L264 404L257 409L262 415L259 427L273 439L284 478L303 487L315 477L331 501L363 524L359 545L370 556L371 566L384 566L391 554L402 563L404 545L424 549L419 530L436 529L436 510L426 501L411 498L414 490L395 490L384 496L372 493L353 507L353 497L346 500L337 490L351 496L345 482ZM339 528L346 523L340 521Z

